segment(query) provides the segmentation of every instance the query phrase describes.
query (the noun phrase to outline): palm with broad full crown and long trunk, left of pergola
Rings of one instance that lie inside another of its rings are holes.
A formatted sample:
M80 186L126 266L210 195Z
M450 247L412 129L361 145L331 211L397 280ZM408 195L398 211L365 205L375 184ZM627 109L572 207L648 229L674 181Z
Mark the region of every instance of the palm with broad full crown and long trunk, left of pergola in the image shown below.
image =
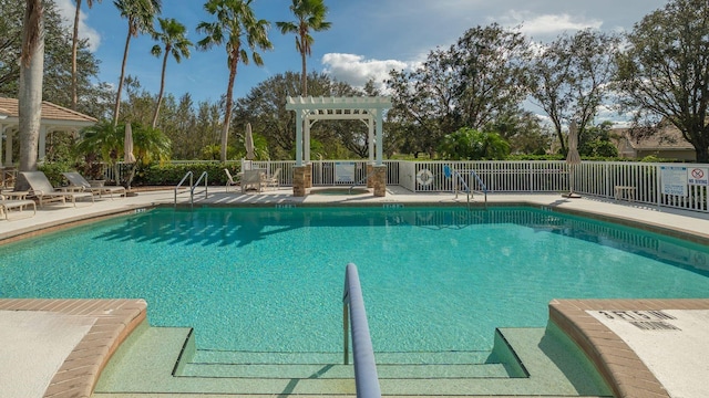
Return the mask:
M207 0L205 10L217 18L214 22L199 22L197 31L207 36L197 42L202 50L208 50L214 45L226 45L227 65L229 67L229 82L226 88L226 105L224 112L224 126L222 129L222 161L226 161L227 137L232 119L234 103L234 81L239 62L248 65L249 55L244 49L251 50L250 60L258 66L264 64L261 55L256 50L270 50L268 40L269 23L258 20L251 9L253 0Z

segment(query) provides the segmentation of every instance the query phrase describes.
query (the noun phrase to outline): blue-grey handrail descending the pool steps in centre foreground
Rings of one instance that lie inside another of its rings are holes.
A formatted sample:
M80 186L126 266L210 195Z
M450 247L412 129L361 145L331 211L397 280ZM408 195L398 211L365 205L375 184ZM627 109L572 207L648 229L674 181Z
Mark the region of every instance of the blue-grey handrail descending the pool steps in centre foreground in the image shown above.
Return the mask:
M377 363L374 362L374 349L372 348L372 341L369 335L367 311L364 310L364 298L362 297L362 287L359 283L357 265L352 263L347 264L347 269L345 271L342 329L345 332L345 365L348 365L349 363L348 334L350 329L352 332L352 358L354 360L354 385L357 387L357 397L381 397L379 376L377 375Z

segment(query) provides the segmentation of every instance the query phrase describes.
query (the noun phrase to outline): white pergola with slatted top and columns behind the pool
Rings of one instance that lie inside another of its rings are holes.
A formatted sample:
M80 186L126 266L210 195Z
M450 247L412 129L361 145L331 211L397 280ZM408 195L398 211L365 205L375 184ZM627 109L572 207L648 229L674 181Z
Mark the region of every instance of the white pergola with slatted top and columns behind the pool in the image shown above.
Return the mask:
M376 166L382 166L383 113L389 108L391 108L391 98L383 96L289 96L286 109L296 112L296 166L310 161L310 127L318 121L362 121L369 128L369 159Z

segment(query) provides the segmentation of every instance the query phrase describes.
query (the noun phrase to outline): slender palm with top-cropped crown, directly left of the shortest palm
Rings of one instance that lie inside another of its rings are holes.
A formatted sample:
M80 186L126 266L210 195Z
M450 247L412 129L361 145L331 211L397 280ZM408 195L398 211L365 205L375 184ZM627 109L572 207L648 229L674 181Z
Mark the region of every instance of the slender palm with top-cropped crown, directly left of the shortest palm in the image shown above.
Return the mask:
M140 33L152 33L153 18L161 12L161 0L114 0L113 4L121 11L121 17L129 20L129 33L125 38L121 78L119 80L119 92L116 93L115 111L113 113L113 125L117 126L119 112L121 109L121 91L123 91L125 63L129 60L131 38L137 38Z

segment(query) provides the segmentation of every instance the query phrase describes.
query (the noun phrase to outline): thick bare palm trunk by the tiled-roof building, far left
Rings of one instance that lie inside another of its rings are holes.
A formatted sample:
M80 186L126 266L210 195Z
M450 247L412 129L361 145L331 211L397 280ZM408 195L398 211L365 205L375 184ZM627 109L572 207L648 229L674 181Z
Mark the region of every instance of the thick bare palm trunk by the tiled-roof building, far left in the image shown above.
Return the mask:
M27 0L20 55L20 171L37 170L37 148L42 123L42 73L44 69L44 6Z

